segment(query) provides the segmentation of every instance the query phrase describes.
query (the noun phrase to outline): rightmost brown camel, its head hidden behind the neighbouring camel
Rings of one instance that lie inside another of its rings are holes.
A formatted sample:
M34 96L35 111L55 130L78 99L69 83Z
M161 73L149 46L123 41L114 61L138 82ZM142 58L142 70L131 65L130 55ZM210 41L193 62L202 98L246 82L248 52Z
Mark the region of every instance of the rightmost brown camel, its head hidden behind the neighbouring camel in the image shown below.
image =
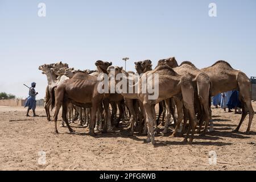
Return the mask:
M240 101L242 103L242 117L237 128L233 132L240 130L242 122L249 112L249 123L246 134L250 132L251 121L254 117L253 106L251 105L250 80L245 73L233 69L226 61L217 61L212 66L203 68L201 71L207 73L212 84L211 96L218 93L228 92L238 89L240 91Z

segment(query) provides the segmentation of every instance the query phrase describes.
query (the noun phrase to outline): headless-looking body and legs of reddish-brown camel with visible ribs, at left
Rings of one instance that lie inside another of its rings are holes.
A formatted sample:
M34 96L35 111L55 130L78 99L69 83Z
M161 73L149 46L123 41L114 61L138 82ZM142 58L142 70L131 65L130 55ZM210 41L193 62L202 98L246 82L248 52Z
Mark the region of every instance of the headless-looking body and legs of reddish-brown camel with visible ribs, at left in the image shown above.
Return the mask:
M97 64L97 62L96 62ZM105 94L98 92L98 86L100 81L97 77L90 76L85 72L78 72L69 80L65 80L60 85L56 87L56 90L52 92L52 105L55 105L55 133L57 134L57 115L59 113L60 107L63 107L62 117L72 133L74 130L69 126L67 121L67 105L71 102L74 105L80 107L91 107L91 121L89 126L89 135L95 136L94 127L96 124L96 111L101 103L104 103L104 129L103 132L107 131L107 121L108 121L108 100L104 100Z

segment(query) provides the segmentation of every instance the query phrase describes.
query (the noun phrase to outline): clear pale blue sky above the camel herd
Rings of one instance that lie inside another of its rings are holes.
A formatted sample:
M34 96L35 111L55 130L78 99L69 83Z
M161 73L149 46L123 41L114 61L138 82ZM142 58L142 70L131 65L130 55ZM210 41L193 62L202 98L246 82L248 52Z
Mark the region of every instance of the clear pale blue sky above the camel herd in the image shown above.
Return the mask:
M46 3L46 17L38 4ZM208 5L217 5L210 18ZM95 69L110 60L134 70L134 61L175 56L198 68L226 60L256 76L256 1L13 1L0 0L0 92L27 97L23 83L37 83L43 98L46 76L39 65L67 62Z

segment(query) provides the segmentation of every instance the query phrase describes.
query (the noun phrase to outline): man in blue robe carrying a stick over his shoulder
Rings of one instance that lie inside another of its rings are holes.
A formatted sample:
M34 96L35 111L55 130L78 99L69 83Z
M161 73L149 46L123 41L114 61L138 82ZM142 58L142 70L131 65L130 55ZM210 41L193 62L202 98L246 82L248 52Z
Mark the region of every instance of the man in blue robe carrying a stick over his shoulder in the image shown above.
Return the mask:
M30 91L28 92L28 98L27 98L27 101L25 103L25 107L28 107L27 109L27 117L30 117L30 115L28 115L28 113L30 112L30 110L32 109L33 111L33 117L38 117L38 115L35 114L35 109L36 109L36 95L38 94L38 92L35 92L35 86L36 86L36 83L35 82L32 82L31 84L31 88L30 88Z

